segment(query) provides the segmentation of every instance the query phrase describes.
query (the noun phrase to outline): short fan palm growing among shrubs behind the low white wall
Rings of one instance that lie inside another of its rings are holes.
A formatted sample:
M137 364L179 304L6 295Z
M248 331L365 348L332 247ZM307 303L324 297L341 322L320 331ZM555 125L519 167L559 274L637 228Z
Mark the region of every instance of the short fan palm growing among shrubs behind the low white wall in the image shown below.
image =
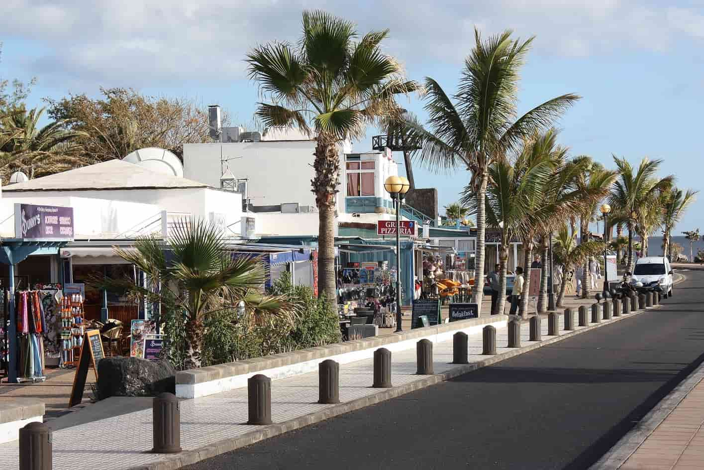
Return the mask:
M260 319L271 315L290 318L296 309L286 297L262 293L266 272L259 259L234 257L226 250L217 227L181 219L166 242L150 236L136 240L134 249L114 248L115 254L144 271L161 290L134 285L129 279L101 279L99 283L183 312L189 349L186 366L199 367L203 321L208 315L234 309L240 302Z

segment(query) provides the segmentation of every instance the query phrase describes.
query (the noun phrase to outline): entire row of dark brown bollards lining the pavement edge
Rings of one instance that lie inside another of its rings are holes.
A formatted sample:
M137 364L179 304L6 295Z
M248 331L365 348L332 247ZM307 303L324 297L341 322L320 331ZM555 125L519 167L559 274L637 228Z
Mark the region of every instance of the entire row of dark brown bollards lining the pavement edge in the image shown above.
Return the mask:
M622 316L660 304L660 293L648 292L639 296L612 299L604 304L591 306L591 323L609 320L612 316ZM582 305L579 307L579 326L589 324L589 312ZM565 309L564 328L574 330L574 310ZM556 312L548 314L548 335L559 335L559 316ZM541 318L530 319L530 340L541 341ZM469 339L466 333L453 335L453 364L469 364ZM508 322L508 347L520 347L520 321ZM487 325L482 330L482 354L496 354L496 328ZM433 343L420 340L416 344L416 373L432 375ZM318 403L334 404L340 402L339 396L340 365L332 359L326 359L318 365ZM391 388L391 351L380 347L374 352L374 388ZM247 381L247 402L249 419L247 424L267 425L272 423L271 416L271 379L263 374L251 376ZM152 404L153 449L152 452L171 454L181 452L181 414L179 401L171 393L162 393L155 397ZM51 430L43 423L29 423L19 433L20 470L51 470Z

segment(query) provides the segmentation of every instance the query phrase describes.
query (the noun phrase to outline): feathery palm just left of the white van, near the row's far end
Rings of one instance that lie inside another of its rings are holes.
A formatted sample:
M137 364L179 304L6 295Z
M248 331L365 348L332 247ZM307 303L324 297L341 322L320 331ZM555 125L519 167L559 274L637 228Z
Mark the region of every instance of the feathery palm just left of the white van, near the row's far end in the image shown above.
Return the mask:
M633 263L633 234L638 222L639 211L650 211L657 202L655 196L667 190L674 177L655 178L655 173L662 160L643 159L636 169L626 159L613 157L620 176L610 194L610 204L616 214L626 221L628 229L627 270L631 271Z

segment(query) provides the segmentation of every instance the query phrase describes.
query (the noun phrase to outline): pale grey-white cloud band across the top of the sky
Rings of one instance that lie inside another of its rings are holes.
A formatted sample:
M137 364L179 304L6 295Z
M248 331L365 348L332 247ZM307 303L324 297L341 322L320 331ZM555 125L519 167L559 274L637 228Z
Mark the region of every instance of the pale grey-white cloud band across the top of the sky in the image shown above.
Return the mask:
M30 73L137 87L244 78L246 52L295 40L303 8L346 16L360 32L390 27L386 49L408 65L458 63L474 25L536 35L535 49L555 56L662 51L704 37L701 15L627 0L363 0L355 8L339 0L6 1L0 30L49 51L29 58Z

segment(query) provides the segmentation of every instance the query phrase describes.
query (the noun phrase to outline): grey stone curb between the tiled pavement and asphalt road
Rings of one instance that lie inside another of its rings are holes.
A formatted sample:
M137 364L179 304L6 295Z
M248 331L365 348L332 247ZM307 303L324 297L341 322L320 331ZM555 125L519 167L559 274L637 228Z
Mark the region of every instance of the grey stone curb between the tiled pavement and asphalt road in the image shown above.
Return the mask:
M684 276L682 276L681 280L684 280ZM677 283L681 282L681 280L678 280ZM582 327L581 329L574 331L561 330L560 335L558 336L548 337L549 339L543 339L540 342L533 342L532 344L520 347L515 351L496 354L496 356L487 357L487 359L484 359L482 361L458 366L444 373L427 376L426 378L422 378L421 380L415 381L413 383L408 383L406 385L390 388L382 392L375 393L374 395L370 395L368 397L361 397L350 402L335 404L334 406L320 410L319 412L309 413L303 416L299 416L298 418L289 419L288 421L284 421L282 423L275 423L269 426L265 426L263 429L261 429L261 431L251 431L249 433L239 435L237 438L220 440L216 443L206 445L204 447L199 447L198 449L187 450L177 455L169 455L168 457L166 457L165 460L161 462L155 462L153 464L146 464L142 466L133 466L127 470L177 470L182 468L183 466L196 464L197 462L209 459L210 457L215 457L220 454L232 452L233 450L237 450L241 447L246 447L248 445L258 443L261 440L265 440L283 433L287 433L288 431L294 431L295 429L310 426L311 424L319 423L320 421L325 421L326 419L333 418L334 416L353 412L358 409L368 407L372 404L391 400L392 398L400 397L401 395L406 395L415 390L426 388L430 385L435 385L436 383L448 381L451 378L455 378L465 373L481 369L482 367L496 364L505 359L524 354L525 352L536 350L539 347L551 345L555 342L564 340L565 338L570 338L574 335L584 333L585 331L591 331L595 328L611 325L612 323L616 323L617 321L622 321L625 319L632 318L634 316L638 316L640 314L645 313L646 311L659 309L660 305L662 304L658 304L657 306L653 306L648 309L633 311L625 316L612 317L611 321L609 321L608 323L593 323L589 326ZM543 336L543 338L546 337Z

